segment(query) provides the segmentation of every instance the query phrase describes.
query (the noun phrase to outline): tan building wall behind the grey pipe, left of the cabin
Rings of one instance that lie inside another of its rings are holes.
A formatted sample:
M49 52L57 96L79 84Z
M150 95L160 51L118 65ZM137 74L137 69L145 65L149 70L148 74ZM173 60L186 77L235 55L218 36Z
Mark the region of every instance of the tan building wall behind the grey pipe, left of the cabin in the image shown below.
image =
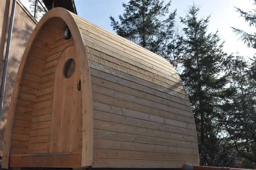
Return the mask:
M2 80L2 71L4 68L4 56L8 36L8 25L12 8L12 4L10 4L10 2L12 2L12 0L1 0L0 2L0 81ZM12 97L15 78L18 72L18 67L22 58L22 54L28 42L28 38L30 37L30 34L32 33L35 26L36 23L28 16L28 14L17 2L14 14L14 24L8 62L2 122L0 126L0 155L2 155L6 119L9 112L10 100Z

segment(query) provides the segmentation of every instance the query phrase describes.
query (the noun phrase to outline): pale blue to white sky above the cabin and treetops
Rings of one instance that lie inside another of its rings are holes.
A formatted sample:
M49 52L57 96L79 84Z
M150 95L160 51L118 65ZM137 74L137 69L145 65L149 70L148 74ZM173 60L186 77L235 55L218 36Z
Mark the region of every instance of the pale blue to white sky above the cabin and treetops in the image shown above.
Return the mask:
M101 26L113 32L110 26L109 16L118 18L122 14L122 2L127 3L129 0L75 0L78 15L90 20L94 24ZM244 29L253 32L255 29L249 28L248 25L240 18L234 6L243 10L252 10L254 8L252 0L172 0L170 11L177 9L177 25L182 28L179 23L179 16L186 15L188 5L193 4L201 7L200 16L211 15L209 32L219 31L219 35L225 41L224 50L228 54L239 52L240 55L252 57L256 50L247 48L243 44L239 36L232 32L232 27Z

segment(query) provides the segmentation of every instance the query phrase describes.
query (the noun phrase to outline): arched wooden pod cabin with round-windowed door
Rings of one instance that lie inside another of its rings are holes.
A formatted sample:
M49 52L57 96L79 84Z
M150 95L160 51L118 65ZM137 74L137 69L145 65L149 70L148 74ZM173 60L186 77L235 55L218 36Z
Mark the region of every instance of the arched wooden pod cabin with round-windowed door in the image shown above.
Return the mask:
M17 75L3 168L198 165L188 96L153 52L54 8L34 29Z

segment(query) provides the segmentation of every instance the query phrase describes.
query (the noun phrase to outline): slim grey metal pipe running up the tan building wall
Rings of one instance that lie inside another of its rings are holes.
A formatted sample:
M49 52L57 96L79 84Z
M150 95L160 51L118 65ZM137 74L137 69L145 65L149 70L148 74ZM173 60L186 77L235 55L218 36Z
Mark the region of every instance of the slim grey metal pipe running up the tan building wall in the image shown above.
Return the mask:
M12 0L12 12L9 24L9 31L8 31L8 38L7 38L7 45L6 45L6 52L4 57L4 70L2 75L2 85L1 85L1 92L0 92L0 121L2 120L2 109L4 103L4 90L6 84L6 74L7 74L7 66L8 66L8 58L9 58L9 50L11 45L11 38L12 38L12 27L13 27L13 20L14 20L14 12L15 12L16 0Z

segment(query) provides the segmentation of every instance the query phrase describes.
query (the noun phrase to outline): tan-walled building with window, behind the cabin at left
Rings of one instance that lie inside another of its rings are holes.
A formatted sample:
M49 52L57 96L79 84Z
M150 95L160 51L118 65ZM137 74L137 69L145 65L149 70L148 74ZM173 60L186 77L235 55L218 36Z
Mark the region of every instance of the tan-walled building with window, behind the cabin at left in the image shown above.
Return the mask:
M4 105L2 110L2 121L0 124L0 155L2 155L2 141L9 110L10 98L14 80L20 65L22 54L37 22L44 14L55 7L63 7L76 12L74 0L17 0L14 12L14 23L9 53L8 70L6 76L6 88L4 93ZM0 81L4 68L4 56L10 22L12 0L1 0L0 3ZM2 82L1 82L2 84ZM22 146L21 146L22 147Z

